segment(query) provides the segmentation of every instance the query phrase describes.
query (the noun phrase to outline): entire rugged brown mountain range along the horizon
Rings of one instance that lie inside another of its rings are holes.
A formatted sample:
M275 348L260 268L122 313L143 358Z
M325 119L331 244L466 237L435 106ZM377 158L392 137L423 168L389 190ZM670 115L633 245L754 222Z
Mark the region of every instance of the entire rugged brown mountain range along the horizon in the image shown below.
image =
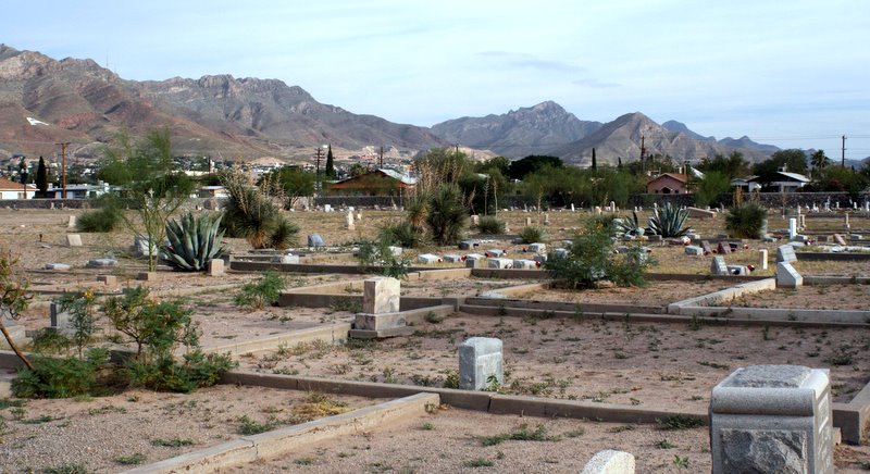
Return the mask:
M277 79L127 80L92 60L58 61L0 45L0 155L50 155L55 144L69 141L76 157L96 158L119 130L140 136L162 126L171 129L176 153L244 160L308 159L315 147L331 144L339 157L371 154L383 146L387 158L410 158L462 146L483 157L555 154L588 165L593 148L599 163L637 159L642 137L647 153L678 160L735 150L760 160L776 150L747 137L703 137L674 121L659 125L639 112L608 123L583 121L552 101L431 128L396 124L320 103Z

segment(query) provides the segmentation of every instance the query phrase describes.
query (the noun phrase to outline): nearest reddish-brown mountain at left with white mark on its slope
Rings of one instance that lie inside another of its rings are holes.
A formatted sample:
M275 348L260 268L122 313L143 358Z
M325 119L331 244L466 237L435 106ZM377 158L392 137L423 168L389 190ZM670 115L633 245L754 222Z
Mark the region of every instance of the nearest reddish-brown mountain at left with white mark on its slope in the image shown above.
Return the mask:
M30 125L27 117L48 125ZM248 159L311 154L311 148L385 146L413 155L447 146L428 128L326 105L281 80L229 75L125 80L92 60L53 60L0 45L0 149L50 153L72 141L88 154L121 128L169 126L176 152Z

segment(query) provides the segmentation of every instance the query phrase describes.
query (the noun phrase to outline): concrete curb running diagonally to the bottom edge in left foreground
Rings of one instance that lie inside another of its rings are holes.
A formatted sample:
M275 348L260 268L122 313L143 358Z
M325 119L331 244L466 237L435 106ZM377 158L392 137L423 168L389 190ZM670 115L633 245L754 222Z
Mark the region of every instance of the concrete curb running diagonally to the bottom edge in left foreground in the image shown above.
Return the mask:
M221 467L275 458L314 442L371 429L408 416L420 416L426 413L427 407L437 407L439 403L436 394L415 394L348 413L246 436L125 473L213 472Z

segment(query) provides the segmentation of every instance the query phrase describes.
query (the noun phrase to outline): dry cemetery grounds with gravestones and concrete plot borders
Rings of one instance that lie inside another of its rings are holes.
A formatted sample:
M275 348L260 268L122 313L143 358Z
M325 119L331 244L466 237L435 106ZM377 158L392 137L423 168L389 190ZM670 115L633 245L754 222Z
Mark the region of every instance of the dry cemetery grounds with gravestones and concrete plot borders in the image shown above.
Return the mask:
M301 239L308 246L259 250L225 238L232 250L222 260L181 273L162 264L149 272L129 255L126 232L70 228L80 211L0 210L3 222L16 223L2 229L0 244L15 250L33 294L23 317L4 321L23 350L47 327L70 334L70 314L54 304L64 292L101 299L144 286L151 297L179 298L202 351L237 363L217 385L189 394L130 388L75 401L20 399L11 381L21 362L2 350L3 465L870 465L870 247L856 237L870 229L867 213L852 213L843 233L842 216L807 212L800 226L801 219L771 210L770 238L739 239L726 235L720 212L695 210L687 237L614 244L618 257L655 261L645 286L573 289L556 284L544 262L567 254L574 233L598 215L594 209L498 213L509 229L540 225L540 242L478 235L472 226L457 245L390 248L406 262L399 278L378 273L385 261L362 262L353 237L375 235L401 211L335 211L294 215L300 235L318 235ZM646 217L650 210L638 211ZM365 219L355 219L359 213ZM265 275L285 284L275 303L240 304L240 289ZM121 336L105 317L95 325L105 344ZM0 347L8 349L2 340ZM71 449L39 454L40 445L55 442ZM781 451L758 457L749 446Z

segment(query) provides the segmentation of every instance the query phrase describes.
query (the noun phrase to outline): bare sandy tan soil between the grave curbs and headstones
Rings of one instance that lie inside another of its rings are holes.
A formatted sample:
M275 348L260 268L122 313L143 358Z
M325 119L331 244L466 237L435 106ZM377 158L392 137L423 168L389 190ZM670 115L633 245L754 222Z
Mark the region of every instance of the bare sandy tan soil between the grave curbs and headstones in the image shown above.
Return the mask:
M147 285L158 298L182 298L194 310L203 347L261 338L283 332L349 322L348 308L279 308L251 311L233 297L258 273L228 272L222 277L159 272L140 282L145 264L127 254L133 233L80 234L84 246L66 246L72 210L0 210L0 248L17 258L32 288L39 290L18 322L28 332L48 325L48 304L60 291L94 288L104 295L123 287ZM352 264L349 246L372 237L380 224L397 221L397 211L362 210L364 219L350 233L341 212L297 212L290 217L300 236L321 234L333 251L298 249L304 262ZM499 213L511 230L536 213ZM581 213L550 212L549 244L558 247L582 225ZM808 234L842 232L838 219L808 219ZM724 232L723 220L689 220L703 236ZM852 219L853 229L870 229L870 220ZM772 214L769 228L787 227ZM469 233L473 235L473 232ZM486 239L486 237L483 237ZM234 253L251 251L241 239L226 239ZM492 245L493 247L488 247ZM771 262L778 242L747 241L748 249L726 255L729 263L756 264L759 249ZM519 255L522 246L495 240L482 249L504 248ZM685 255L679 246L651 245L656 273L709 274L709 257ZM415 252L460 253L428 247ZM413 253L411 253L413 255ZM89 259L111 257L111 269L87 269ZM71 272L45 271L46 263L67 263ZM433 267L448 267L439 263ZM452 266L459 266L452 264ZM775 266L775 265L772 265ZM798 262L807 275L870 276L870 262ZM96 283L110 273L117 287ZM772 276L773 270L754 275ZM287 274L288 287L362 279L362 275ZM457 278L402 282L403 296L474 296L533 279ZM545 289L511 296L535 300L587 303L667 305L716 291L728 282L655 280L643 288L567 291ZM867 285L803 287L751 295L734 305L868 310ZM103 336L112 329L102 321ZM762 363L799 364L831 370L834 398L848 401L870 382L870 330L686 323L605 321L573 317L477 316L453 313L414 327L410 336L344 346L303 344L238 358L240 369L348 381L440 386L457 370L457 346L468 337L502 339L506 381L494 387L506 394L586 400L596 403L679 408L703 411L710 389L733 370ZM751 348L751 349L749 349ZM73 400L0 400L0 472L117 472L241 436L245 426L285 426L383 400L325 396L249 386L201 389L191 395L128 390L110 397ZM525 427L523 427L525 426ZM537 433L529 440L511 439L484 446L487 436ZM706 427L668 431L656 425L624 425L589 420L490 415L442 407L422 419L407 420L294 452L283 459L241 465L234 472L579 472L598 450L622 449L635 454L638 472L709 472ZM870 447L841 446L838 472L860 472L870 465ZM50 470L59 471L50 471ZM67 469L67 471L62 471Z

